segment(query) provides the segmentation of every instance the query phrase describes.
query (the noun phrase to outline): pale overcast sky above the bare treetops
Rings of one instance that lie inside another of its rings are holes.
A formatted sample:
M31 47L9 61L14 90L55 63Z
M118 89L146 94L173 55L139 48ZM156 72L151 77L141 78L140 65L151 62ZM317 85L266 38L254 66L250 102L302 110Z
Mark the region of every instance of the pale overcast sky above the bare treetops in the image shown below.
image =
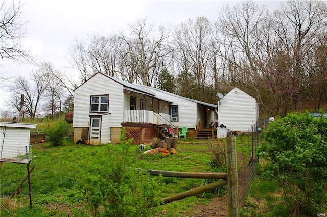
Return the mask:
M7 1L10 3L11 1ZM13 2L18 2L14 0ZM20 1L22 2L22 1ZM87 35L109 34L126 28L128 23L147 17L149 23L179 24L188 18L205 16L217 20L221 6L239 1L157 1L157 0L25 0L22 20L27 21L24 45L31 49L37 62L51 62L57 70L68 71L68 50L74 39ZM278 1L256 1L275 9ZM12 77L28 76L31 64L16 65L0 60L2 72ZM0 89L0 110L6 107L6 96Z

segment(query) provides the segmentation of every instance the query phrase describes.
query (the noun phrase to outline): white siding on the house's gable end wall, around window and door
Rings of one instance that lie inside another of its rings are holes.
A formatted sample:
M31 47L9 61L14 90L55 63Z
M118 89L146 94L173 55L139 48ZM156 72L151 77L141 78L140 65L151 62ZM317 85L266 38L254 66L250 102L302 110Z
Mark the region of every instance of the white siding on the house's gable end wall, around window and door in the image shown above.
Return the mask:
M73 127L88 127L90 96L109 94L110 127L120 127L123 119L123 85L98 73L75 90Z

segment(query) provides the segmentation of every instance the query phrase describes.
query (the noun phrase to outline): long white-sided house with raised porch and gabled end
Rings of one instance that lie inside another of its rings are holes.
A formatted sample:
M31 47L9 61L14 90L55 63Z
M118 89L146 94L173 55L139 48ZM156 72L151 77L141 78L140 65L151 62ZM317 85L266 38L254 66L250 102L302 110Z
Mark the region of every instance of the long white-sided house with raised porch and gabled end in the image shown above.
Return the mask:
M146 144L159 137L161 125L174 130L186 126L196 135L213 121L215 109L214 104L97 73L75 90L74 141L119 142L125 127L127 138Z

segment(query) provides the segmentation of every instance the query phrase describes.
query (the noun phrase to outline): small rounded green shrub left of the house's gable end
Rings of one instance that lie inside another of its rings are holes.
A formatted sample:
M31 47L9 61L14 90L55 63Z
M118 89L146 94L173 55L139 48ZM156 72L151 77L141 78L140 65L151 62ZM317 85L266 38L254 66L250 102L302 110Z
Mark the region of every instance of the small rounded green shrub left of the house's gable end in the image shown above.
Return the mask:
M62 120L44 131L51 145L60 146L63 145L65 135L68 135L72 129L66 121Z

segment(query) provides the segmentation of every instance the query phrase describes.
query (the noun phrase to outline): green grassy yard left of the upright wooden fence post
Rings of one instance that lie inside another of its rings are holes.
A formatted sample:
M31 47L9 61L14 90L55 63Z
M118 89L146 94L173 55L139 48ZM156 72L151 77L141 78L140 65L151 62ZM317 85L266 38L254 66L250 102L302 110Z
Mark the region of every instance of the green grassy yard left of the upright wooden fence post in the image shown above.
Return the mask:
M171 170L184 172L209 172L211 167L210 154L205 143L196 141L177 145L178 154L161 156L139 153L138 147L132 147L132 156L137 168L153 170ZM21 193L15 195L14 205L7 205L8 211L1 208L0 216L87 216L85 196L79 186L79 177L85 172L89 164L104 165L106 145L90 146L75 145L72 140L65 141L64 146L52 147L49 143L39 143L32 147L33 159L30 168L35 166L31 173L33 209L29 209L27 181L21 187ZM96 162L96 163L95 163ZM27 175L26 165L4 163L1 168L2 201L11 195L20 182ZM154 177L155 178L155 177ZM168 197L194 187L200 186L202 179L162 178L162 187L159 191L163 197ZM190 197L171 204L155 208L157 213L165 212L165 216L176 216L177 210L192 212L196 203L208 202L209 198Z

